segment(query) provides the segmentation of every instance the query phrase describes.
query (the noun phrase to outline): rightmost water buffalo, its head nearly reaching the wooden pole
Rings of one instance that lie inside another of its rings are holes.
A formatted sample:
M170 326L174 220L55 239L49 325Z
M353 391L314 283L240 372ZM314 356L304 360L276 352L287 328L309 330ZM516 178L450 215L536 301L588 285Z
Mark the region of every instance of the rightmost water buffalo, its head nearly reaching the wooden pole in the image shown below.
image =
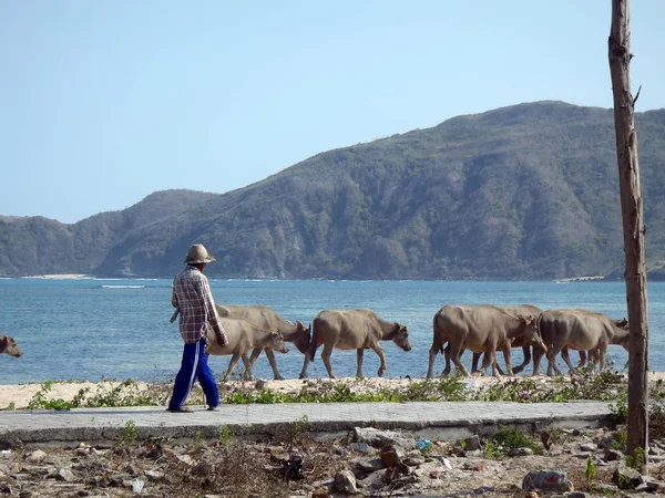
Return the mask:
M607 346L610 344L622 345L628 351L630 334L628 322L624 320L612 320L603 313L595 311L575 309L575 310L548 310L539 318L539 329L543 342L550 346L548 354L549 367L548 374L552 370L561 373L556 367L556 355L561 353L564 362L570 369L570 373L576 373L572 365L567 350L589 351L590 356L600 363L600 370L605 369L605 359L607 356ZM597 350L597 352L595 352ZM540 360L543 351L533 350L533 374L538 375L540 371Z

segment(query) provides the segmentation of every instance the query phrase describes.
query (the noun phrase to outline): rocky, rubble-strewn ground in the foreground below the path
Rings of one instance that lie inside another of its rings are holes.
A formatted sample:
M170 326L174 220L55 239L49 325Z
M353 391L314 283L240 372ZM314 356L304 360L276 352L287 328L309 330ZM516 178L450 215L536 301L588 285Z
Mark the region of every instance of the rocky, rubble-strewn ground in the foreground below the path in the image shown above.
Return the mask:
M523 446L508 456L495 442L475 436L463 443L427 444L409 434L362 428L345 440L314 440L303 425L270 442L234 440L224 433L217 440L136 442L127 430L121 442L106 447L81 443L0 450L0 496L326 497L350 491L377 497L534 498L665 492L665 442L652 443L648 478L634 476L633 484L632 476L624 479L630 487L644 483L640 490L617 488L614 474L625 466L625 457L610 447L621 444L622 434L557 430L531 437L535 454ZM554 469L562 474L544 476L550 480L543 481L553 491L522 489L530 471Z

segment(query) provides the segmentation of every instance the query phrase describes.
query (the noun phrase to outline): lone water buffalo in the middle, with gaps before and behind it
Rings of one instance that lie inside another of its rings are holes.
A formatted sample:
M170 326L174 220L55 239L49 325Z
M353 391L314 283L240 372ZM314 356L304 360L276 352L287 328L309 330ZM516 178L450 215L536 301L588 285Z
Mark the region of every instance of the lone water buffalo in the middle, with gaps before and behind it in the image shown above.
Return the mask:
M309 353L305 355L300 378L307 376L307 365L314 361L316 350L324 344L321 359L330 378L336 378L330 365L332 349L356 350L358 366L356 376L362 377L362 355L365 350L371 349L379 355L381 365L378 376L386 372L386 355L379 341L392 341L403 351L411 351L409 331L407 325L397 322L387 322L367 309L358 310L324 310L311 322L311 343Z

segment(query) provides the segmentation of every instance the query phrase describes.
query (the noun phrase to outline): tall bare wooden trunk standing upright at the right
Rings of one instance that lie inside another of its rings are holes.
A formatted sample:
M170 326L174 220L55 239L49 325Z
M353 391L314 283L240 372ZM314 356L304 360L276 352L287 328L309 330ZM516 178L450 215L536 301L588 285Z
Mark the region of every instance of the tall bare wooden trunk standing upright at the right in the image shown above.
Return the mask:
M637 135L631 94L630 0L612 0L608 56L614 94L614 128L623 218L626 300L631 328L628 361L628 454L641 457L643 474L648 471L648 324L646 314L646 264L642 193L637 163ZM642 453L640 452L642 448Z

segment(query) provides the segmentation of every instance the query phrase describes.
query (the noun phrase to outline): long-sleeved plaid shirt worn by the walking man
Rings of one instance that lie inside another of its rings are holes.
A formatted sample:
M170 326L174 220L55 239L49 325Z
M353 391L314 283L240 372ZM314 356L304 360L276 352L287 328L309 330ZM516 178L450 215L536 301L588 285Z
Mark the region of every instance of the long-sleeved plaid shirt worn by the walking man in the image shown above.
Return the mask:
M173 280L171 304L180 310L180 331L185 344L205 336L206 322L213 326L217 341L223 336L223 342L227 342L226 331L215 311L215 300L207 277L198 268L187 266Z

